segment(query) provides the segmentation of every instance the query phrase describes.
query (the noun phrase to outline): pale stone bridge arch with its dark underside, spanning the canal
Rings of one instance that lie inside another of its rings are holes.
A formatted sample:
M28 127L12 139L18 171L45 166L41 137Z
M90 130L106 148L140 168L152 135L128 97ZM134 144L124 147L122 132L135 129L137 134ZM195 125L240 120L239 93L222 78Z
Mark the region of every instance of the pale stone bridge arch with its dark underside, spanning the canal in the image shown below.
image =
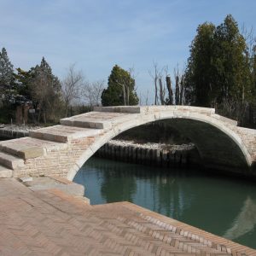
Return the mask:
M95 137L89 148L68 172L73 180L75 174L91 155L123 131L158 120L168 120L170 125L189 137L198 148L203 165L208 168L245 174L252 165L247 145L237 132L236 121L214 113L213 108L183 106L165 107L108 107L95 108L95 113L120 113L119 117L106 123L102 121L102 133ZM64 122L65 123L65 122Z

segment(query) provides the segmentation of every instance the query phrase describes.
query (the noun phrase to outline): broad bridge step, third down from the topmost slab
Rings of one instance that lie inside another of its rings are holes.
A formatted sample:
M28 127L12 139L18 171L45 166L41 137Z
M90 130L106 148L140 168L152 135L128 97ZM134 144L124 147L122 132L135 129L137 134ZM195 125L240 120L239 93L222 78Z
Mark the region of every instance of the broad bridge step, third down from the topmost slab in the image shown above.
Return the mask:
M100 129L55 125L30 131L29 136L53 142L68 143L73 139L96 136L101 132Z

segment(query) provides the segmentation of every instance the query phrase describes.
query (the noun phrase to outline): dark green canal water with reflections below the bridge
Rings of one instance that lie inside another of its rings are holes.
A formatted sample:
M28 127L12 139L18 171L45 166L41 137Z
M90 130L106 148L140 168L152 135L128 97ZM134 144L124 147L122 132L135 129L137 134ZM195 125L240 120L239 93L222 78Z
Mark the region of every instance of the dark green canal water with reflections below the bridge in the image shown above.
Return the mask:
M74 177L91 204L131 201L256 248L256 183L91 158Z

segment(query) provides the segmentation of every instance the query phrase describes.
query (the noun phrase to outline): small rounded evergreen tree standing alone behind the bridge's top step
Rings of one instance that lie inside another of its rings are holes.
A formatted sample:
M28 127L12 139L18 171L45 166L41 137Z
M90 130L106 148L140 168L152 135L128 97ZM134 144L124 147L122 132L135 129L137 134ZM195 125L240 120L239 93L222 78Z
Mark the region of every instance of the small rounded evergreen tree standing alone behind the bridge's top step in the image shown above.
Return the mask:
M102 91L102 106L137 105L135 79L131 73L115 65L108 77L108 88Z

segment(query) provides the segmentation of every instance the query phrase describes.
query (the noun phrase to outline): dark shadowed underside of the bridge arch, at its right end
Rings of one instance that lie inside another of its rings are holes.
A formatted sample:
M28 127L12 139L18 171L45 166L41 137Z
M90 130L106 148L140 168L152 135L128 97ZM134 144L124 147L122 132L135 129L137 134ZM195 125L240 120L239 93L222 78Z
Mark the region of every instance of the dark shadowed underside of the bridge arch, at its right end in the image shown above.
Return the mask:
M166 122L195 143L207 169L248 172L247 160L239 145L216 126L194 119L168 119Z

